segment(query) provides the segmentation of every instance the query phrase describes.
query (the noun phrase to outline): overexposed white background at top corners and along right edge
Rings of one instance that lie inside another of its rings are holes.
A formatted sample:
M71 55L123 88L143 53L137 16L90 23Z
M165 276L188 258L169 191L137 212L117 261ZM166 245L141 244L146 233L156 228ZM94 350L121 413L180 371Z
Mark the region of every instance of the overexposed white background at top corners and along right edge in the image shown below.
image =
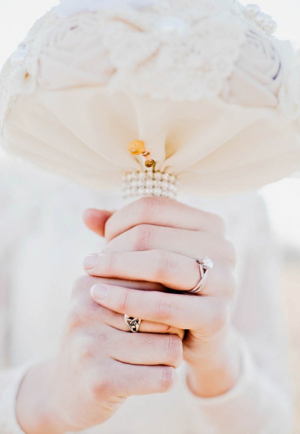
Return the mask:
M58 1L58 0L57 0ZM15 50L30 25L55 0L0 0L0 65ZM244 2L242 2L244 3ZM290 39L300 48L299 0L259 0L261 10L277 22L276 36ZM0 158L4 158L0 155ZM275 237L284 253L282 288L290 336L290 366L294 378L296 421L294 434L300 433L300 174L270 184L260 191L269 213ZM254 434L254 433L253 433Z

